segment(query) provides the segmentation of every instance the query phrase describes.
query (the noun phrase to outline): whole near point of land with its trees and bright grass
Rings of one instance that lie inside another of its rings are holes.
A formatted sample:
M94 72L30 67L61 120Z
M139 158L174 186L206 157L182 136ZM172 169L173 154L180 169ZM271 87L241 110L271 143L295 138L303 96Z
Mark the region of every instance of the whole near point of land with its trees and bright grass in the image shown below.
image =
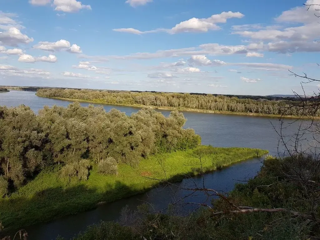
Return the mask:
M102 107L0 107L0 216L18 228L146 191L185 175L261 156L247 148L201 147L178 111L127 116ZM167 177L168 179L165 179ZM153 178L154 180L150 180Z

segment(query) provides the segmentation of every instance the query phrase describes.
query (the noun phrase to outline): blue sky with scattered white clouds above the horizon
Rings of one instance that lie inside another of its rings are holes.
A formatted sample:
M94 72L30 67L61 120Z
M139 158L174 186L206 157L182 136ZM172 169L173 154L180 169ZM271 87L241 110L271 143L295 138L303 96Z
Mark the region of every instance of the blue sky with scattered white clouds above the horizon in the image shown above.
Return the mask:
M306 94L320 0L0 0L0 85ZM309 5L305 6L303 4ZM320 79L320 77L319 77Z

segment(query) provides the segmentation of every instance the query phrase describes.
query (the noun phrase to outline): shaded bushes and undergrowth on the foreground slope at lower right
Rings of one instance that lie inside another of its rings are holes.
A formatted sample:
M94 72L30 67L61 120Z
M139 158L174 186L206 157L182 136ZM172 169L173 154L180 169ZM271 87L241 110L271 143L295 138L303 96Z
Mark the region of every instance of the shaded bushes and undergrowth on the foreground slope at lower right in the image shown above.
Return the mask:
M228 197L212 199L212 209L179 217L170 210L149 214L141 206L144 217L132 218L136 213L123 211L119 223L90 226L73 240L319 239L319 170L312 157L268 156L257 177L237 184Z

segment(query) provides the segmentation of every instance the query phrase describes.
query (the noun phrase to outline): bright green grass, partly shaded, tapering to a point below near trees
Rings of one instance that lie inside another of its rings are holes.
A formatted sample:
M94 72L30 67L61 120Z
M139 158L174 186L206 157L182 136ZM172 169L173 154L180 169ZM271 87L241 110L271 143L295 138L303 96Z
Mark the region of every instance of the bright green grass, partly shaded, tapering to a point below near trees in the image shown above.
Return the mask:
M205 172L268 153L252 148L199 149ZM196 165L200 164L196 157L199 149L150 156L136 168L121 164L117 176L100 175L93 168L89 179L82 182L68 182L56 170L45 170L10 197L0 200L0 220L5 228L15 230L145 192L161 184L155 179L182 180L199 173L195 169L200 167Z

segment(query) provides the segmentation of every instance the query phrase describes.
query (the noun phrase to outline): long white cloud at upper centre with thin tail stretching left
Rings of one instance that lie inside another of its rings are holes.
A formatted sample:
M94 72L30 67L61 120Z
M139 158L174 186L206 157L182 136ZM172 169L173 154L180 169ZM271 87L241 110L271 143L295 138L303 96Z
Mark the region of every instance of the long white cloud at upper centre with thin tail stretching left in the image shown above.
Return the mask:
M134 1L134 0L132 0ZM138 0L135 0L138 1ZM140 0L141 1L141 0ZM144 0L146 1L146 0ZM148 1L148 0L147 0ZM155 33L155 32L167 32L169 34L176 34L182 32L208 32L209 30L219 30L220 27L218 23L226 23L230 18L242 18L244 15L240 12L221 12L220 14L212 15L209 18L191 18L186 21L182 21L176 24L171 29L158 28L149 31L140 31L134 28L116 28L113 29L117 32L127 32L132 34L145 34L145 33Z

